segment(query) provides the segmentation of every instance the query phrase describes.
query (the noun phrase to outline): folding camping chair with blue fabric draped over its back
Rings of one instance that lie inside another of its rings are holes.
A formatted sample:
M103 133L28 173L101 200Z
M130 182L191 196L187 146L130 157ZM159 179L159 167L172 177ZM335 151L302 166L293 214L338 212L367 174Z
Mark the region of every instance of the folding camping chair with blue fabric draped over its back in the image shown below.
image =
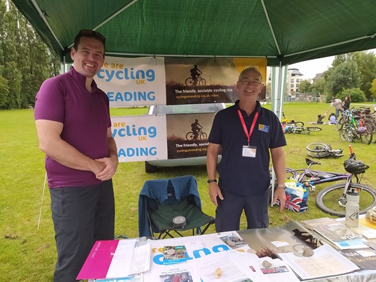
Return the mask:
M185 226L174 225L173 219L184 216ZM203 234L214 223L214 218L201 211L201 200L197 181L192 175L172 179L148 180L138 198L139 236L158 239L192 229L192 235ZM201 230L201 227L203 229Z

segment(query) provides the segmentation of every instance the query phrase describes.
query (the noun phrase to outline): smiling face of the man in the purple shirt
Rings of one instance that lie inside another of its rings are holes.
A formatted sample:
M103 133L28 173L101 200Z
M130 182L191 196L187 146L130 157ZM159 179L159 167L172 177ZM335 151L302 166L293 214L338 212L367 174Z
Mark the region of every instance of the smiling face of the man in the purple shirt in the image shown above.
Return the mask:
M100 40L82 36L77 50L71 49L75 71L87 78L94 77L103 66L104 46Z

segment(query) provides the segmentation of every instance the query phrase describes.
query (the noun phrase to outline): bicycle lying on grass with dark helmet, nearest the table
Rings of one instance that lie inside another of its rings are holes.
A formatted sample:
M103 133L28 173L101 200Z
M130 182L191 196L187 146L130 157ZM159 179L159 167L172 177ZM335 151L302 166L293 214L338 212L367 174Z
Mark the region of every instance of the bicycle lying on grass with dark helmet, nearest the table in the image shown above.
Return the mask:
M312 192L314 192L315 186L318 184L344 180L344 183L330 185L318 192L316 196L317 207L332 216L343 217L347 203L347 192L362 191L362 194L360 194L359 214L365 214L368 209L376 205L376 191L360 183L364 172L369 166L366 166L362 161L357 161L351 146L349 146L349 149L351 155L349 159L344 161L344 169L348 173L312 170L312 165L320 163L306 158L305 162L308 167L297 170L286 168L286 179L294 179ZM271 170L271 175L272 173ZM353 183L352 177L355 177L356 183Z

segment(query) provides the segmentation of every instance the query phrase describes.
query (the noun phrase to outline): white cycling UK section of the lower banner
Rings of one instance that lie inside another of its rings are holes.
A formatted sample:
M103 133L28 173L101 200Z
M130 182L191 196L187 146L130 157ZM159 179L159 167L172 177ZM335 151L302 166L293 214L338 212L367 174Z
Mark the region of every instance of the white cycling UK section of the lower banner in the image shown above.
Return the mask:
M167 159L166 116L112 116L119 162Z

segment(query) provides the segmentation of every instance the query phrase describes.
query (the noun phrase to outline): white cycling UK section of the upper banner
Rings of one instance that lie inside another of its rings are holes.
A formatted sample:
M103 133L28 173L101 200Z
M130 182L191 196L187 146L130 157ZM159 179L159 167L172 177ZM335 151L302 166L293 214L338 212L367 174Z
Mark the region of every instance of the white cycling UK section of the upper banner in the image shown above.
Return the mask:
M166 105L164 57L105 57L95 81L110 107Z

